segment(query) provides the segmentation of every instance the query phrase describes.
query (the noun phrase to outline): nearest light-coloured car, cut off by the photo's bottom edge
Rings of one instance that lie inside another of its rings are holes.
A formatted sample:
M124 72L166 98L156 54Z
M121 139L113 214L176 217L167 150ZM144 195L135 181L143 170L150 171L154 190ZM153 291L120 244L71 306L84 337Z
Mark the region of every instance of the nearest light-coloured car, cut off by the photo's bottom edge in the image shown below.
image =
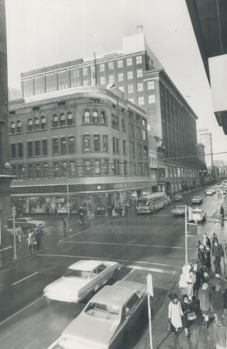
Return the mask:
M146 286L118 281L105 286L62 332L58 348L124 348L126 335L146 307Z

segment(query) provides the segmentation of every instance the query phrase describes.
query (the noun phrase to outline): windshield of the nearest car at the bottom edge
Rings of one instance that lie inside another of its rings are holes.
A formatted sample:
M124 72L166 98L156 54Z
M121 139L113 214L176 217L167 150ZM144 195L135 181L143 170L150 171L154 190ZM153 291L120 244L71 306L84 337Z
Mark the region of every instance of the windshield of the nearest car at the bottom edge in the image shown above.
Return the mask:
M119 307L102 303L89 303L85 309L87 315L105 320L117 320L119 317Z

